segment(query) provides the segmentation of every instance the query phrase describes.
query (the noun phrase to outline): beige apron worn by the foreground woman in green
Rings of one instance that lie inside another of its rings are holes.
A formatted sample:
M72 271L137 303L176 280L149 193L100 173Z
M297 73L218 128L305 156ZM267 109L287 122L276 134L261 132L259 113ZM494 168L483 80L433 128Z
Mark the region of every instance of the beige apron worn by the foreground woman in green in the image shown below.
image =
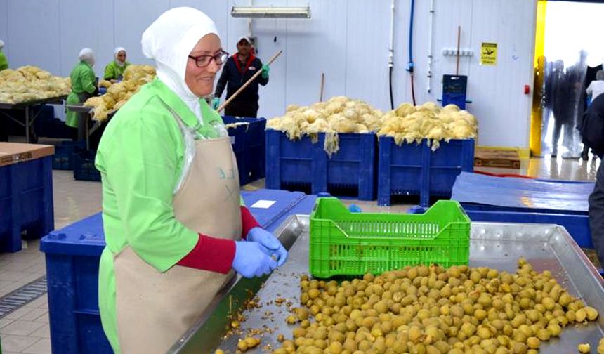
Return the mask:
M181 128L183 122L172 112ZM185 128L188 129L188 128ZM204 235L239 240L239 173L229 138L195 141L195 158L173 198L176 219ZM166 353L234 275L174 265L165 273L130 247L114 257L117 329L124 354Z

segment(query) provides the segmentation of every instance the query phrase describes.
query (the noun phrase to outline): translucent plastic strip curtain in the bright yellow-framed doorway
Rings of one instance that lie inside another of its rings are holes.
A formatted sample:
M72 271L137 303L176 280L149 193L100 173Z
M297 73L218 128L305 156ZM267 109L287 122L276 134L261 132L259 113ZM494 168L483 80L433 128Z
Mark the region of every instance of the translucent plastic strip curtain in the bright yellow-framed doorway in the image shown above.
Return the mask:
M539 1L539 5L545 1ZM588 81L595 79L598 67L594 59L599 60L598 46L599 35L588 25L593 25L590 18L574 16L573 13L585 11L584 6L598 6L598 4L568 3L563 1L549 1L547 15L545 10L542 15L544 27L543 51L535 58L536 68L543 66L542 81L535 81L535 91L542 91L541 100L534 100L532 123L537 125L537 118L541 117L541 142L537 144L537 129L531 129L531 148L540 145L540 154L552 157L578 158L582 156L582 138L576 127L583 112L588 106L586 88ZM543 5L543 8L545 5ZM600 15L603 7L590 7L589 13L598 11ZM575 18L574 20L570 20ZM569 21L570 20L570 21ZM546 23L545 23L546 22ZM537 49L537 48L536 48ZM588 60L589 52L589 60ZM601 68L601 67L600 67ZM537 70L539 72L539 69ZM591 74L590 74L591 73ZM536 75L537 76L537 75ZM539 87L537 86L539 84ZM541 114L536 106L541 107ZM537 149L535 149L537 150ZM583 152L586 155L586 152Z

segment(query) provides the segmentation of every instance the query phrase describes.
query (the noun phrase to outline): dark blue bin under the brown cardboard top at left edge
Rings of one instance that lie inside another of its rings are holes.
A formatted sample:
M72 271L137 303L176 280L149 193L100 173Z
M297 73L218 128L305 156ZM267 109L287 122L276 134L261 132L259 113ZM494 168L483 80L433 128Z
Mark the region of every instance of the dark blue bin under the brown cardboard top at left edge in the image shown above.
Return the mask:
M52 156L0 167L0 251L21 249L21 232L38 238L53 230Z

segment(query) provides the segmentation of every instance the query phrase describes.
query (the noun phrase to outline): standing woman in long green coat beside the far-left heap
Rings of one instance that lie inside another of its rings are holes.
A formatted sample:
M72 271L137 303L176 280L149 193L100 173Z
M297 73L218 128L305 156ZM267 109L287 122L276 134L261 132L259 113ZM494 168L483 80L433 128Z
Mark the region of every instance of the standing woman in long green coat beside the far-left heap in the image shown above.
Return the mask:
M79 63L74 67L70 74L72 81L72 91L67 96L67 105L77 105L96 95L98 88L96 87L96 77L92 67L94 66L94 53L91 48L84 48L79 52ZM88 119L88 114L78 113L72 110L67 110L67 119L65 124L77 129L78 140L86 138L85 120Z

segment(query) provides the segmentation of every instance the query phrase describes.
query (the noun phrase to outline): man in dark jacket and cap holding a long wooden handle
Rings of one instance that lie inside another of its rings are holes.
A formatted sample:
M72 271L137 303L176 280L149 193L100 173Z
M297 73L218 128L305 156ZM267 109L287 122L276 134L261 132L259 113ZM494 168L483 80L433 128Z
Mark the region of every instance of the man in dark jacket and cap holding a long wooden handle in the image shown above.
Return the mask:
M251 52L250 39L241 37L237 41L237 53L228 58L216 84L216 93L212 100L214 109L218 108L225 86L228 100L258 70L262 70L262 74L225 107L225 115L255 118L258 114L258 84L268 84L268 65L262 65L260 59Z

